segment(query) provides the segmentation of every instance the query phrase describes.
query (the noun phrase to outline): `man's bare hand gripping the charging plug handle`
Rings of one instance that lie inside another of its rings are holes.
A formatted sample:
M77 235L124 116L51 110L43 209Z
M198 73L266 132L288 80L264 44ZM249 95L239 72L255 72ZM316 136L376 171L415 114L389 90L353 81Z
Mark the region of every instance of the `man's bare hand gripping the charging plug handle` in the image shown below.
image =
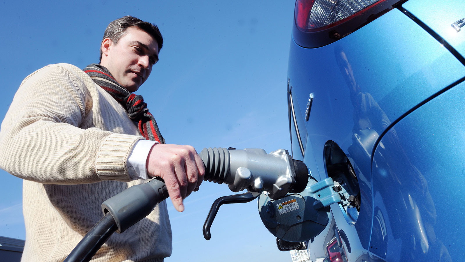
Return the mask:
M190 145L155 144L147 157L147 174L165 180L173 206L184 211L182 200L202 183L205 166Z

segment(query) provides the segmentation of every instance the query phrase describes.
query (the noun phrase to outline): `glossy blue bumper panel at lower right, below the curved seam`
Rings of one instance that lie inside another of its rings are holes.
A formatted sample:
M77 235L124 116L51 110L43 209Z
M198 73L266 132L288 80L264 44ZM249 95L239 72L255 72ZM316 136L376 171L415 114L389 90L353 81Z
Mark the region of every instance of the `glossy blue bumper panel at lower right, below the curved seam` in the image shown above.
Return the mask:
M460 83L381 139L372 170L370 252L387 261L463 261L464 116L465 83Z

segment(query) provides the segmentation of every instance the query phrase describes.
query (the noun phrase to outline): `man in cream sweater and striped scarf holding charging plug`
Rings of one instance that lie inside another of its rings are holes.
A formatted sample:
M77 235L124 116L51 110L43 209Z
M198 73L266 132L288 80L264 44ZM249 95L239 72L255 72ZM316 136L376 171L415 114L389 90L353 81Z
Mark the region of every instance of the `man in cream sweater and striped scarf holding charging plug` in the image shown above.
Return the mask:
M205 170L193 147L164 144L142 97L130 93L162 44L155 25L125 16L106 28L100 64L49 65L21 83L1 125L0 167L25 179L22 261L63 261L100 220L101 202L128 186L163 178L179 212L200 186ZM93 261L163 261L171 241L162 202Z

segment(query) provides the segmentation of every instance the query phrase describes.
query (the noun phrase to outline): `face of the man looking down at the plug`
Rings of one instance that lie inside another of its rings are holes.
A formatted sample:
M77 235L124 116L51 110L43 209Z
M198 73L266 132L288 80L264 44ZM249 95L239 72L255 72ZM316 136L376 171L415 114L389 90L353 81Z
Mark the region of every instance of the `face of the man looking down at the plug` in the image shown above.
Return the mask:
M101 65L129 92L139 89L152 66L158 62L158 43L140 28L127 28L117 44L111 39L102 41Z

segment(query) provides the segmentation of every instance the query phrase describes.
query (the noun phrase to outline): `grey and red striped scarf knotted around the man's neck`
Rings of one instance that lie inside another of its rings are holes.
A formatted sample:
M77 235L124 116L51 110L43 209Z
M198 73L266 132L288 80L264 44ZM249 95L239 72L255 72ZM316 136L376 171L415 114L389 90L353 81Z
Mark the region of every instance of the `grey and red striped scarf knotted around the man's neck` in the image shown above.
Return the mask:
M102 65L90 64L84 69L84 72L92 78L94 83L120 102L129 117L138 123L139 132L144 138L165 144L165 139L158 130L157 122L148 111L147 104L144 103L142 96L136 96L122 87L120 83L116 82L110 71Z

